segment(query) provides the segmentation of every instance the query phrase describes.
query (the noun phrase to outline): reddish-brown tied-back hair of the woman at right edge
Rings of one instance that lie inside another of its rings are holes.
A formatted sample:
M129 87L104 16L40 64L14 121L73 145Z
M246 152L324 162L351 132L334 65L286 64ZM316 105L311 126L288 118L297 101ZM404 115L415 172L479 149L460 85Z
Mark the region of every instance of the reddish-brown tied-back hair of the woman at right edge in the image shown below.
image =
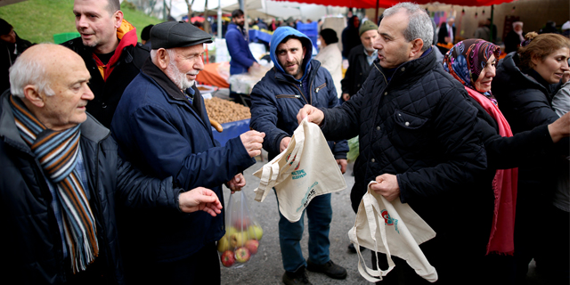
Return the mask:
M570 48L570 39L558 34L541 34L530 32L525 35L525 42L518 48L520 62L518 66L524 69L533 69L533 58L541 61L563 47Z

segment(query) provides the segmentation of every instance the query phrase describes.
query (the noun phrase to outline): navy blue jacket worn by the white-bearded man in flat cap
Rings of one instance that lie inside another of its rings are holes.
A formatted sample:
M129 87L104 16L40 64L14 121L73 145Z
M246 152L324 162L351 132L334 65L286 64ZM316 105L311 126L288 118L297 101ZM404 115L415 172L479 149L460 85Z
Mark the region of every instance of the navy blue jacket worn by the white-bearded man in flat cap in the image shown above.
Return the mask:
M119 155L144 174L172 175L175 185L207 187L223 201L222 184L256 159L249 157L240 137L223 147L216 143L204 100L196 85L192 88L191 104L149 59L118 103L111 131ZM224 210L215 217L203 211L178 216L162 209L126 209L120 214L119 223L126 229L121 240L128 241L122 247L129 253L126 261L180 260L224 236Z

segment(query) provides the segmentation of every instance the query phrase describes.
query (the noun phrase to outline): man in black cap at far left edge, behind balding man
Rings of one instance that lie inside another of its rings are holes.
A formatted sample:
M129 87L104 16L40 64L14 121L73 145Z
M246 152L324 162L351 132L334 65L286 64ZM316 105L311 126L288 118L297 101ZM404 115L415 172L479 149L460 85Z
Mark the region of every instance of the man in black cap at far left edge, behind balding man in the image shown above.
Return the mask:
M10 88L9 69L32 43L18 37L12 25L0 19L0 94Z

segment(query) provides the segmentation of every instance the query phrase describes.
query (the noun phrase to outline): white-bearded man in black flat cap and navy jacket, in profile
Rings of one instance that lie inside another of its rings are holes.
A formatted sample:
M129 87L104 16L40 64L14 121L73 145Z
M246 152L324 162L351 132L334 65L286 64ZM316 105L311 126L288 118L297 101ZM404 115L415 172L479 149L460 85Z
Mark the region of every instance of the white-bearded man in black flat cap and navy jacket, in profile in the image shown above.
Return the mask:
M211 36L185 22L151 29L151 58L126 88L111 131L119 154L146 174L174 177L177 185L201 185L224 200L222 184L240 190L240 173L256 163L265 134L249 131L219 146L204 100L194 85L204 68ZM166 143L165 143L166 142ZM220 283L216 240L224 213L183 215L162 209L119 210L126 276L134 284Z

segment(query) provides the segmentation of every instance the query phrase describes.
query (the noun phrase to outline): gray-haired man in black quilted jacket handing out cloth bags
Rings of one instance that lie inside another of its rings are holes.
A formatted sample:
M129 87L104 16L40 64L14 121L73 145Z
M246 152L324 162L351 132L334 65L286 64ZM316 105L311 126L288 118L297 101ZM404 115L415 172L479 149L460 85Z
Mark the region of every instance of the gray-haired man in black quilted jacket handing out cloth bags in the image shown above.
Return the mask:
M438 283L473 282L465 276L485 256L493 213L487 210L493 193L472 186L487 166L475 130L477 111L463 86L436 62L431 20L419 5L387 9L378 31L379 60L362 89L335 109L305 106L297 119L320 124L328 140L360 135L354 211L376 181L372 191L408 203L436 231L420 248L436 267ZM395 258L395 265L397 273L388 278L428 283L402 259Z

